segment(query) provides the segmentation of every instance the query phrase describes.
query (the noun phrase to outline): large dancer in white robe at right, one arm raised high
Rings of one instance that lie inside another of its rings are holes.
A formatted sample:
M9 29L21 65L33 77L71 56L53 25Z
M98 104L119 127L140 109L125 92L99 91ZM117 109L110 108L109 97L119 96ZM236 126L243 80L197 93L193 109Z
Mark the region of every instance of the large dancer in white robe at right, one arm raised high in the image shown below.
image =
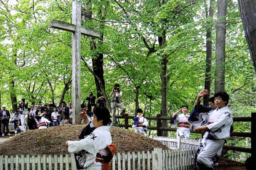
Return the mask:
M208 94L207 90L199 93L197 98L201 98ZM226 138L230 136L230 128L233 123L232 112L228 109L229 95L226 92L219 92L214 95L214 103L216 109L211 109L208 112L202 111L203 118L200 116L200 107L196 105L194 110L198 113L191 113L190 122L196 127L195 132L205 132L203 140L199 146L197 155L197 168L199 170L212 170L211 158L214 157L220 148L223 146ZM205 107L201 108L201 110ZM193 111L192 111L193 112ZM201 124L200 124L201 120ZM195 124L193 123L195 122Z

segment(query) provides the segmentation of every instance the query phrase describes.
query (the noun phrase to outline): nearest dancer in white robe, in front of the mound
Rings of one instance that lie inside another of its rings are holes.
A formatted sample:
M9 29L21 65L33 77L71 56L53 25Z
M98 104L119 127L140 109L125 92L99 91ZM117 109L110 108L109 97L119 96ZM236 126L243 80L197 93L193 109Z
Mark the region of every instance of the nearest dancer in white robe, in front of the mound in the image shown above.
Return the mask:
M96 129L80 141L66 142L68 151L75 153L75 159L78 160L80 167L86 170L102 169L102 163L96 159L96 154L112 143L110 127L107 126L109 120L110 112L107 108L95 107L92 122Z

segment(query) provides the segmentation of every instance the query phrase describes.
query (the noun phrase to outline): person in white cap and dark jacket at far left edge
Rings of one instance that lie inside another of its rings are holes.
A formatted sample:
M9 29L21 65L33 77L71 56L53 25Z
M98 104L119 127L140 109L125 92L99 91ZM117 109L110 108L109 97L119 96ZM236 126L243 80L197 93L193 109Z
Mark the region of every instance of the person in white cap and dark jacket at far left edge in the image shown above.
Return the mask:
M0 111L2 136L5 136L5 127L6 127L7 135L11 135L9 130L10 113L9 113L9 110L6 110L5 108L6 106L2 105L2 110Z

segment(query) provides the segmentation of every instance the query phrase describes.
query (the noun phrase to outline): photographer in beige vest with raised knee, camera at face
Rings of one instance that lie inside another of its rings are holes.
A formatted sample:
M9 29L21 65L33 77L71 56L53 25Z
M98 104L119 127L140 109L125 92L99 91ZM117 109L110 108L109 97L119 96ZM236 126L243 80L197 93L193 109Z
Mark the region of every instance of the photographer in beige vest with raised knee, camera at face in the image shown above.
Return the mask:
M111 113L112 113L112 121L113 124L115 124L116 120L115 120L115 110L116 107L121 109L121 115L125 114L125 107L124 105L121 103L122 102L122 91L120 90L120 86L119 84L115 84L114 88L112 88L111 93L109 94L109 96L111 96Z

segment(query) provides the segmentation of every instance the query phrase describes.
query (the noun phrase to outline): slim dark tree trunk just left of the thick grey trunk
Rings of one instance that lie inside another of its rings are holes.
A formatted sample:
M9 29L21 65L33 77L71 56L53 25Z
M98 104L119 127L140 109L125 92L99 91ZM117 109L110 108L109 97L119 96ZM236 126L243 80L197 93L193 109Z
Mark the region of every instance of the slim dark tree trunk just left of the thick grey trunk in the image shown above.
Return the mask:
M213 8L212 8L212 0L210 0L209 10L207 10L207 5L205 4L205 12L206 18L210 18L211 20L207 22L207 30L206 30L206 69L205 69L205 89L208 90L209 94L204 96L203 104L207 105L207 102L210 97L211 92L211 74L210 71L212 69L212 23L213 23Z

